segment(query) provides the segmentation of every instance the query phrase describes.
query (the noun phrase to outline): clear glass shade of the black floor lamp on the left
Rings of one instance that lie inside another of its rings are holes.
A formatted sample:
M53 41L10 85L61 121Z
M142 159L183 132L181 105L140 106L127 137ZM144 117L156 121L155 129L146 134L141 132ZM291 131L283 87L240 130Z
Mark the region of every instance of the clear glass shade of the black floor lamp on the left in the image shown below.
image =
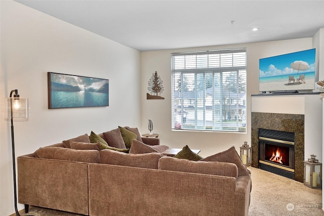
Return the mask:
M12 108L12 115L11 115ZM12 97L7 98L6 120L26 120L28 118L28 98Z

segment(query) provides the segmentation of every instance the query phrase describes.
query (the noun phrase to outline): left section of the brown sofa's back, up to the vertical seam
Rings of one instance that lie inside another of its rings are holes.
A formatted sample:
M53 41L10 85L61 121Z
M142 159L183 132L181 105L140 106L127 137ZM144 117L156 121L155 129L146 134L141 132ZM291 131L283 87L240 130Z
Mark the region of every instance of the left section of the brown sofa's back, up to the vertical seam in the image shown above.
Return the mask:
M89 215L88 163L19 156L18 202Z

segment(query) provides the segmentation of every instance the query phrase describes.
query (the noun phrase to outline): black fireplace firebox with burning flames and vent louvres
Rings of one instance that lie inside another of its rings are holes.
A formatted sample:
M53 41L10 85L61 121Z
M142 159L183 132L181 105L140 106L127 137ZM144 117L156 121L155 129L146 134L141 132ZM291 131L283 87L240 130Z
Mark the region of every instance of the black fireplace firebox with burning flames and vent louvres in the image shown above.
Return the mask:
M295 133L258 128L259 168L295 179Z

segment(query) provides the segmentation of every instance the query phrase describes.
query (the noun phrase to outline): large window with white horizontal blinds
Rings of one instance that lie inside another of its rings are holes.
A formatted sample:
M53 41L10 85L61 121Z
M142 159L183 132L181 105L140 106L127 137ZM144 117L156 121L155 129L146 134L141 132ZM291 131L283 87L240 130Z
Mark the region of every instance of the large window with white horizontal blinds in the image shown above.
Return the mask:
M246 49L172 54L172 129L246 133Z

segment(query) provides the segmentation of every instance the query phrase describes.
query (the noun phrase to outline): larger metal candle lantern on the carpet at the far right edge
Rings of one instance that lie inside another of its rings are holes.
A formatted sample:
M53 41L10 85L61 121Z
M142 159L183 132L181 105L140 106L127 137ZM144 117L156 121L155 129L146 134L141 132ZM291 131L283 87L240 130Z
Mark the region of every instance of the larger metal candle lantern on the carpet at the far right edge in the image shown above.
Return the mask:
M309 188L322 188L322 163L315 157L312 154L304 161L304 185Z

